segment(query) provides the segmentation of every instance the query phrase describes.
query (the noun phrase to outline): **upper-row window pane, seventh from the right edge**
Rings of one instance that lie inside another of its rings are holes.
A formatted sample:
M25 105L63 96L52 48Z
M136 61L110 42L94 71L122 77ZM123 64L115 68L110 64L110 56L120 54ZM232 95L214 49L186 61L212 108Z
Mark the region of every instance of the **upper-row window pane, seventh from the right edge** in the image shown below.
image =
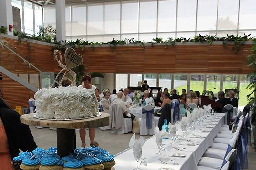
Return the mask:
M122 1L121 32L138 32L138 1Z

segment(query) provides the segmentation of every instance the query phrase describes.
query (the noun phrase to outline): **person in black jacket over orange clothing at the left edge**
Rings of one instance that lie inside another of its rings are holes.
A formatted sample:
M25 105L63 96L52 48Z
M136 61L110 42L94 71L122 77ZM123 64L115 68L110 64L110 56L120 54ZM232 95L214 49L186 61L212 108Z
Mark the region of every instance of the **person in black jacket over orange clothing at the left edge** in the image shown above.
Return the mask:
M37 145L30 128L20 122L20 115L0 98L0 169L13 170L11 160L19 150L33 151Z

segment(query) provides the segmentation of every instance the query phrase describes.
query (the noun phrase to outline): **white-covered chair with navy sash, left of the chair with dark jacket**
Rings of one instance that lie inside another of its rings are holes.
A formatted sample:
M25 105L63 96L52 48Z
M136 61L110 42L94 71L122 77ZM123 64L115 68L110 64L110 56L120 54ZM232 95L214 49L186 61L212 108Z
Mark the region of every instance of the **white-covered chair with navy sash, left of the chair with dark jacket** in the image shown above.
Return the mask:
M140 125L140 135L154 135L155 134L155 120L154 107L146 105L142 109L142 117L138 119Z

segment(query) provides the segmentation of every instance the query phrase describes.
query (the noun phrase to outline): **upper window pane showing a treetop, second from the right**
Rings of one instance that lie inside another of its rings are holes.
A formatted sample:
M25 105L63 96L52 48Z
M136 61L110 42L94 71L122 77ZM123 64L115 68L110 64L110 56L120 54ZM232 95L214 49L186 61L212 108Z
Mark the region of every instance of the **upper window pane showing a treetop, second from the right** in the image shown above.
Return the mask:
M239 0L218 1L218 30L237 29Z

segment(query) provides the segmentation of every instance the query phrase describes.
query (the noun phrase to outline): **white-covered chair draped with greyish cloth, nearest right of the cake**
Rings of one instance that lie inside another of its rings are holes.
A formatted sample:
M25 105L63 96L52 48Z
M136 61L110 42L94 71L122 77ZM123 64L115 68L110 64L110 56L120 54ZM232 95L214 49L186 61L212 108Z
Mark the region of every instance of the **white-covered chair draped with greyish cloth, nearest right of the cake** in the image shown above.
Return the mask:
M132 119L123 118L122 108L118 104L109 107L111 112L110 127L112 134L124 134L132 131Z

